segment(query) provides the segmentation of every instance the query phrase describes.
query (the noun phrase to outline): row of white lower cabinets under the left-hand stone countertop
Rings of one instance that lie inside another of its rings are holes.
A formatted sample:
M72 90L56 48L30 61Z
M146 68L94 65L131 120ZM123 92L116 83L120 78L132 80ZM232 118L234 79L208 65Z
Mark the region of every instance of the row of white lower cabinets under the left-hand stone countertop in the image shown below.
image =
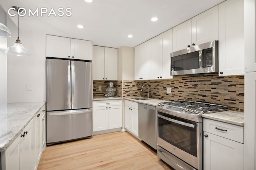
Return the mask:
M41 125L44 115L43 107L36 116L26 125L14 142L1 152L1 170L36 170L42 154L43 132ZM45 115L44 115L45 116ZM40 145L40 146L39 146Z

